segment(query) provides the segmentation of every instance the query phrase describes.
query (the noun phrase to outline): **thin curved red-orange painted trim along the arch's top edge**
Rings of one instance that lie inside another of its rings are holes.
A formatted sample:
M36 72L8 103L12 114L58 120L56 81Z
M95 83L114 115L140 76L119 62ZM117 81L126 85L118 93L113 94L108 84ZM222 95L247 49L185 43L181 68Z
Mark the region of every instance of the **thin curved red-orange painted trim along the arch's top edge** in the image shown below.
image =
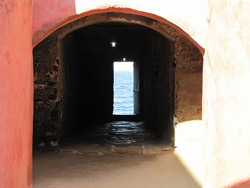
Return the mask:
M202 53L202 55L204 55L205 53L205 49L199 45L188 33L186 33L183 29L181 29L179 26L173 24L172 22L166 20L163 17L157 16L155 14L152 13L148 13L148 12L143 12L143 11L138 11L138 10L134 10L131 8L119 8L119 7L109 7L109 8L104 8L104 9L94 9L94 10L90 10L87 12L83 12L82 14L73 16L65 21L63 21L62 23L60 23L58 26L54 27L53 29L51 29L47 34L45 34L43 37L41 37L37 42L35 42L33 44L33 47L35 47L38 43L40 43L42 40L44 40L47 36L49 36L52 32L54 32L55 30L59 29L60 27L69 24L75 20L78 20L84 16L89 16L89 15L93 15L93 14L100 14L100 13L107 13L107 12L119 12L119 13L127 13L127 14L133 14L133 15L139 15L139 16L144 16L144 17L148 17L154 20L157 20L159 22L165 23L173 28L175 28L176 30L178 30L179 32L181 32L185 37L187 37Z

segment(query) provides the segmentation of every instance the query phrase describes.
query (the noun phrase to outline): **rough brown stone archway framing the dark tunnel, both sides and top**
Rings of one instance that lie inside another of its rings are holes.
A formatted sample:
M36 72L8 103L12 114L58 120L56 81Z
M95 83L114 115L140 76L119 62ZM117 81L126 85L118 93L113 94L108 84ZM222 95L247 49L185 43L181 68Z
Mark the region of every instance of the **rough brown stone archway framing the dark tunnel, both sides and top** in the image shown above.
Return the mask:
M58 141L64 135L62 127L62 80L64 78L60 68L64 61L63 50L61 50L63 49L62 39L80 28L114 22L149 28L160 33L171 43L172 60L169 63L175 67L171 79L176 77L176 80L171 86L172 94L169 96L172 107L169 111L167 143L174 144L174 115L179 121L201 119L202 55L191 41L175 28L148 17L120 12L93 14L64 25L34 48L35 148L44 144L49 148L57 147ZM187 76L189 79L186 79Z

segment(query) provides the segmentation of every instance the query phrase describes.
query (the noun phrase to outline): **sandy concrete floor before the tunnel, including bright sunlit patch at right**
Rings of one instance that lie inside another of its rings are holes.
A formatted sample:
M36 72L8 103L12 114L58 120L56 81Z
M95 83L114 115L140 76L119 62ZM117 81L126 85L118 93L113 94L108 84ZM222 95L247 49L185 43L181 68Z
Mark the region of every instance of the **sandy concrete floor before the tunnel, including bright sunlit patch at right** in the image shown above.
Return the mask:
M177 148L160 154L34 154L33 188L199 188L201 132L199 121L179 124Z

